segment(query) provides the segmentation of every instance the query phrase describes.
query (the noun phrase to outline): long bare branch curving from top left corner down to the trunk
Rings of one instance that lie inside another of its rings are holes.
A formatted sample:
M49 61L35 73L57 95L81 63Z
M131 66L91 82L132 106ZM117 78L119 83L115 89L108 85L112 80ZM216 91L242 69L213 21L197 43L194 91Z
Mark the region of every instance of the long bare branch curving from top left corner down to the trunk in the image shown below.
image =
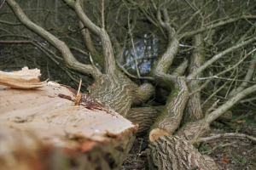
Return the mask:
M23 13L18 3L15 2L15 0L7 0L6 2L23 26L26 26L28 29L35 32L39 36L44 37L45 40L47 40L51 45L60 51L68 67L84 74L90 74L94 78L102 74L98 69L96 69L96 67L93 67L92 65L84 65L79 63L79 61L73 57L73 54L65 42L62 42L57 37L49 33L49 31L45 31L42 27L29 20L26 14Z

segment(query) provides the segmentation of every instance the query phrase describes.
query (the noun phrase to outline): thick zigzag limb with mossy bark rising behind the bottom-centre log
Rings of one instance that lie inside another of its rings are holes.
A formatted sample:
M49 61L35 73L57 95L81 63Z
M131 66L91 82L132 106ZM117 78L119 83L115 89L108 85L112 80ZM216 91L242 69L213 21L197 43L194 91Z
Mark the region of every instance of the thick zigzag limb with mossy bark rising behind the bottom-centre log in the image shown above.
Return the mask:
M160 26L167 31L169 44L166 48L166 52L160 57L153 71L154 77L160 82L160 86L172 88L172 92L169 94L164 111L161 112L160 116L151 127L151 129L153 129L151 132L156 128L165 129L168 133L172 134L177 127L179 127L182 120L183 111L189 99L189 91L184 77L177 77L177 72L174 72L173 75L166 74L177 54L179 42L175 37L175 30L168 23L169 19L166 9L163 9L165 21L161 20L160 14L160 11L158 11L157 18L160 22ZM186 62L183 63L183 65L185 64ZM152 133L149 133L149 138L151 134Z

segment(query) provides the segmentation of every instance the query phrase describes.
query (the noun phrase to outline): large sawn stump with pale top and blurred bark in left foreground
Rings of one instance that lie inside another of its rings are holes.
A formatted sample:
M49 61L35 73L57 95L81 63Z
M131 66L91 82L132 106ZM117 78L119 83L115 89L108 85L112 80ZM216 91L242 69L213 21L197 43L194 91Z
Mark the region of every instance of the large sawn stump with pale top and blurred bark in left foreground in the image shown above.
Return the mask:
M0 86L0 169L118 169L137 124L74 105L74 98L55 82L26 90Z

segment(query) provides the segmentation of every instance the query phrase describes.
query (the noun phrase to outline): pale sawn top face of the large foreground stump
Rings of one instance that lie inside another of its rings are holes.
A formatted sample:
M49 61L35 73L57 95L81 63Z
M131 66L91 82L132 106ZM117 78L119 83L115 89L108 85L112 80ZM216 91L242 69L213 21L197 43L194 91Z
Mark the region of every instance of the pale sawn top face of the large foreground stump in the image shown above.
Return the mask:
M67 139L108 141L137 125L118 113L90 111L58 94L73 97L67 88L49 82L38 90L0 87L0 128L31 131L51 144L71 146Z

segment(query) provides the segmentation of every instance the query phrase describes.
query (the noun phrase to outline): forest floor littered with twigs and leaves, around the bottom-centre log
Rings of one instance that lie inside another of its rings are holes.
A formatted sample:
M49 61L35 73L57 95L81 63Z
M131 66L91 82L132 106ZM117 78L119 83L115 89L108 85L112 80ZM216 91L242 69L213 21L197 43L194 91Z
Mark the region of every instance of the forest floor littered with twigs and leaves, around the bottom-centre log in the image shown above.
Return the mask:
M212 132L230 133L230 129L216 129ZM239 133L245 133L256 138L256 123L241 125ZM147 149L148 139L137 138L120 170L141 169L147 170L147 158L140 153ZM256 169L256 142L242 138L220 138L201 144L202 154L211 156L220 170L247 170Z

